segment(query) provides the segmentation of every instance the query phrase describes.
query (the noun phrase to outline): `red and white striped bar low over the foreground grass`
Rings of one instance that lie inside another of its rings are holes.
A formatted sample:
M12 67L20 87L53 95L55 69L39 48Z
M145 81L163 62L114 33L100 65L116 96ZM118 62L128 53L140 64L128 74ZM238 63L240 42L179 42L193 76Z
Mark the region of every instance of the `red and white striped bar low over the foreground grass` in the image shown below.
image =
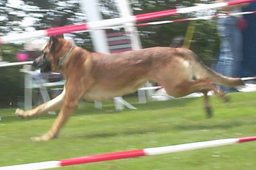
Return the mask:
M13 170L13 169L36 170L36 169L58 168L58 167L64 167L64 166L68 166L68 165L102 162L102 161L106 161L106 160L135 158L135 157L139 157L139 156L170 154L173 152L189 151L189 150L196 150L196 149L200 149L200 148L209 148L209 147L224 146L224 145L232 145L235 143L250 142L250 141L256 141L256 136L242 137L242 138L218 139L218 140L214 140L214 141L186 143L186 144L173 145L173 146L144 148L142 150L113 152L113 153L109 153L109 154L84 156L84 157L64 159L64 160L59 160L59 161L56 160L56 161L48 161L48 162L12 165L12 166L7 166L7 167L0 167L0 170Z

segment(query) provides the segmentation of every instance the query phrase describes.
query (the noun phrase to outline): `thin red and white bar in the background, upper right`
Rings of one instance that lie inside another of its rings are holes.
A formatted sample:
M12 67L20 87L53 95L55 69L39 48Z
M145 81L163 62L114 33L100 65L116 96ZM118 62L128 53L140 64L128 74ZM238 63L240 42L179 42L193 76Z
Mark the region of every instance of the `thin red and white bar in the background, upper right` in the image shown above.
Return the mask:
M224 18L227 16L235 16L235 15L247 15L247 14L254 14L256 11L247 11L247 12L237 12L232 14L217 14L217 15L210 15L210 16L201 16L197 18L185 18L185 19L175 19L175 20L163 20L159 22L150 22L150 23L141 23L135 24L135 27L144 26L144 25L158 25L158 24L168 24L168 23L175 23L175 22L184 22L189 20L200 20L200 19L210 19L210 18Z

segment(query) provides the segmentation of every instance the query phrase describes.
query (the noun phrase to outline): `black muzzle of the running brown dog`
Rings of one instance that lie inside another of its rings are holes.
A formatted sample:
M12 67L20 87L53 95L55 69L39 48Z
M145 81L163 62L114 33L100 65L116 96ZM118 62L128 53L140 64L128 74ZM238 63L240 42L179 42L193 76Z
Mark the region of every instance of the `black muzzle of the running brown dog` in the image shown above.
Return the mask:
M46 58L46 53L43 53L41 56L36 58L32 63L32 67L40 68L41 73L52 71L51 62Z

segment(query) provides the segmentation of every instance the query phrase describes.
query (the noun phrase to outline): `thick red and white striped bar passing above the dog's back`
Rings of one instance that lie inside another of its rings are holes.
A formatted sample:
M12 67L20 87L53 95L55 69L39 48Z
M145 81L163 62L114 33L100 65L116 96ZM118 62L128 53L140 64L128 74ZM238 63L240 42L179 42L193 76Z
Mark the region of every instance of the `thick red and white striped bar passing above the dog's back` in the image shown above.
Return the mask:
M14 35L0 37L0 44L6 44L13 41L26 40L26 39L38 38L38 37L44 37L44 36L61 35L63 33L83 31L88 29L100 29L102 27L111 27L113 25L119 25L119 24L129 23L129 22L142 22L145 20L163 18L165 16L170 16L170 15L184 14L184 13L193 12L193 11L207 10L209 8L237 5L240 3L255 2L255 1L256 0L238 0L238 1L231 1L231 2L212 3L208 5L203 5L203 6L178 8L174 10L151 12L147 14L139 14L139 15L123 17L123 18L100 20L97 22L89 22L89 23L84 23L80 25L69 25L65 27L50 28L50 29L44 29L44 30L39 30L34 32L18 33Z

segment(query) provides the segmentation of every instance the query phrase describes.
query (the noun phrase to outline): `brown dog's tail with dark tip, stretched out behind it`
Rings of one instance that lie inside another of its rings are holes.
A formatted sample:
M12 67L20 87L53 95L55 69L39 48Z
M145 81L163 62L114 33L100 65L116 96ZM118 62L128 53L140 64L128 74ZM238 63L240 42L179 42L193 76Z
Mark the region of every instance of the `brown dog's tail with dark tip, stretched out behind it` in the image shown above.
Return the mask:
M193 53L191 50L187 50L187 52L185 53L186 53L185 54L186 59L188 59L189 62L191 62L193 76L195 76L196 79L208 77L213 83L220 84L223 86L228 86L228 87L236 87L236 86L244 85L241 78L231 78L228 76L224 76L210 69L209 67L204 65L204 63L202 63L199 60L199 57L197 57L196 54Z

